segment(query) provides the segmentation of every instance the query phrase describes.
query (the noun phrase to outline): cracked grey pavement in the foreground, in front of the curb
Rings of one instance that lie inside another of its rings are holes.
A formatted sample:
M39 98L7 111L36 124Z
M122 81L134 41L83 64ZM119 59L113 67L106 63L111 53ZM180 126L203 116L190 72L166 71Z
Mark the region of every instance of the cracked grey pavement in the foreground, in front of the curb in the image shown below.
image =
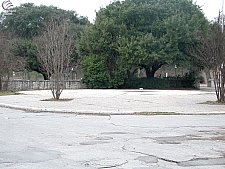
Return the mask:
M224 115L84 116L0 108L0 168L222 169Z

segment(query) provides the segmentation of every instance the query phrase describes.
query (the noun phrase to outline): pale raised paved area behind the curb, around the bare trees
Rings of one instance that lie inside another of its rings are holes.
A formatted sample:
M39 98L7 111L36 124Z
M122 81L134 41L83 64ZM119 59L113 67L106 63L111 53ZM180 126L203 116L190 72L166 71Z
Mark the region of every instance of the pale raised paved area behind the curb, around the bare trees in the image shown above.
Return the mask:
M36 112L77 114L132 114L174 112L182 114L224 114L225 105L216 101L212 88L202 90L64 90L61 98L70 101L43 101L52 98L49 90L22 91L21 95L0 97L0 107Z

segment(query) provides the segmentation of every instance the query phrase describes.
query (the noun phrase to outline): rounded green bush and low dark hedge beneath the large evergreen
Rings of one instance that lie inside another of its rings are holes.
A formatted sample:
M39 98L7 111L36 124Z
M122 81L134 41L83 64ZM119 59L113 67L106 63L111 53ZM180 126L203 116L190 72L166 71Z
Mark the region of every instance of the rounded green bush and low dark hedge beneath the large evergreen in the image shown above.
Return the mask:
M170 88L194 88L196 75L194 72L183 77L169 78L136 78L124 80L124 73L114 70L109 73L106 58L99 55L90 55L82 62L84 73L83 83L91 89L170 89Z

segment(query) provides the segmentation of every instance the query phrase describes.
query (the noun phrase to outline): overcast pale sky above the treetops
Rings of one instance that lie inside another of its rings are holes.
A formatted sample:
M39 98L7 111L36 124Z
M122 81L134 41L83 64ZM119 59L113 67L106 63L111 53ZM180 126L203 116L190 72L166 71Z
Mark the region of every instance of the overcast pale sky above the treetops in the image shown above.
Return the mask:
M5 1L5 0L0 0ZM31 2L36 5L53 5L66 10L75 10L79 15L87 16L90 21L95 18L95 10L99 10L101 6L105 7L113 0L10 0L14 6L19 6L21 3ZM219 10L222 9L223 0L193 0L198 5L202 6L203 12L209 20L213 20L218 16ZM2 11L2 9L1 9Z

